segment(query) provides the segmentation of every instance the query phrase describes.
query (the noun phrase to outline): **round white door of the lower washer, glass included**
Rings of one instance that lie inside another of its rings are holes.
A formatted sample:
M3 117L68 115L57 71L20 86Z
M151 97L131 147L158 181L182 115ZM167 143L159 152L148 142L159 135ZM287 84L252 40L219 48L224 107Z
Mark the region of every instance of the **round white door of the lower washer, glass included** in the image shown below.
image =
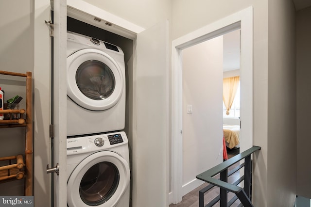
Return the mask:
M130 182L129 164L120 155L100 151L82 160L67 182L68 207L113 207Z

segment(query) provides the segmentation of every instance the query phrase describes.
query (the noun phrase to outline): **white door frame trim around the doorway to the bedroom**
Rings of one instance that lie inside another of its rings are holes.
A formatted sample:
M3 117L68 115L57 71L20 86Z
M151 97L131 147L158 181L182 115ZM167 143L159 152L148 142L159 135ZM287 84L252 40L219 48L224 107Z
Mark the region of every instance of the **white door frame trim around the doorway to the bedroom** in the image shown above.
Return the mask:
M241 28L241 137L249 137L240 144L244 151L253 144L253 7L250 6L223 19L172 41L172 181L169 201L182 200L183 140L182 140L182 50L227 32ZM243 87L243 85L247 87Z

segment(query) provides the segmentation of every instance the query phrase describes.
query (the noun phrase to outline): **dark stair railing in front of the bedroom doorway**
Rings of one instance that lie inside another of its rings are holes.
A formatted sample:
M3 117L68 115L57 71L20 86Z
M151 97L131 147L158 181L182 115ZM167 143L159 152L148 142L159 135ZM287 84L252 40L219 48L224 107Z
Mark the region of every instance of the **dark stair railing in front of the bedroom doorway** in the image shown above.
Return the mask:
M220 201L220 207L229 207L237 199L241 201L239 207L254 207L251 202L252 196L252 160L251 155L260 150L259 146L253 146L248 150L216 165L215 167L205 171L196 176L196 178L203 180L210 185L199 191L199 207L212 207L218 201ZM235 167L228 173L228 168L233 164L245 159L244 163ZM244 175L240 177L234 183L228 183L228 176L234 174L238 170L244 167ZM213 176L220 174L220 179L214 178ZM237 186L244 180L244 188ZM206 206L204 206L204 193L213 188L214 186L220 187L220 195L216 196ZM228 202L228 191L235 193L235 196Z

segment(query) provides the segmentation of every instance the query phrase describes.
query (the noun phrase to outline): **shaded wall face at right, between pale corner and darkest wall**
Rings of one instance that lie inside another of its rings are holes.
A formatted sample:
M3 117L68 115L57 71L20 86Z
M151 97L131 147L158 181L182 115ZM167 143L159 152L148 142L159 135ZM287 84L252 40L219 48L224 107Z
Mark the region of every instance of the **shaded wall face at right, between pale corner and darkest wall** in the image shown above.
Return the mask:
M269 0L268 16L268 206L292 207L296 195L294 3Z

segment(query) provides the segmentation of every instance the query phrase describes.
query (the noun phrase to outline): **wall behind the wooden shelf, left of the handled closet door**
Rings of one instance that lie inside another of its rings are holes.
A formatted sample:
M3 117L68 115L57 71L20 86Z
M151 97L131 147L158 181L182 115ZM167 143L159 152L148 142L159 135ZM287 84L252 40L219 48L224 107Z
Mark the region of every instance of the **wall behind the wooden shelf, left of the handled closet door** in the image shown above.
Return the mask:
M46 206L50 202L50 176L46 174L50 162L50 105L46 102L50 98L50 48L40 47L50 42L44 22L50 18L50 1L0 1L0 8L0 70L33 72L35 205ZM25 108L25 78L1 76L0 87L5 91L5 100L22 96L20 107ZM24 127L1 129L0 157L24 154L24 134ZM24 180L1 184L0 195L23 195L23 185Z

